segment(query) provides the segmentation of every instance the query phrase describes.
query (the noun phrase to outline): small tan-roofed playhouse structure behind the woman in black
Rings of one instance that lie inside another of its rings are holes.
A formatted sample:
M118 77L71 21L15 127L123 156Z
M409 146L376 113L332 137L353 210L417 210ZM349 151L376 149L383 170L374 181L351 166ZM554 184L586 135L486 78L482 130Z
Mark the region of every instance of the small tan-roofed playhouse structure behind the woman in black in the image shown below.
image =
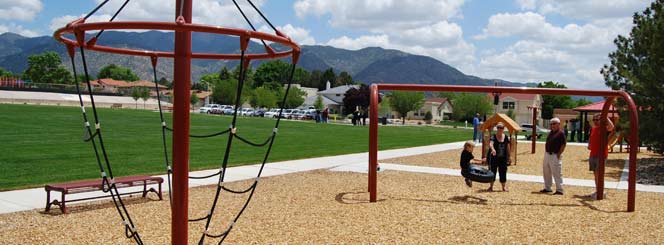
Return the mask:
M519 126L518 123L516 123L512 118L508 117L507 115L503 113L496 113L490 118L486 119L486 122L482 124L480 127L480 130L482 130L482 133L484 137L482 138L482 158L486 157L487 151L489 150L489 139L491 138L491 133L493 132L493 128L498 124L499 122L502 122L505 125L505 129L507 129L508 136L512 139L510 142L510 158L512 160L512 163L516 165L516 146L517 146L517 140L516 137L521 132L521 127Z

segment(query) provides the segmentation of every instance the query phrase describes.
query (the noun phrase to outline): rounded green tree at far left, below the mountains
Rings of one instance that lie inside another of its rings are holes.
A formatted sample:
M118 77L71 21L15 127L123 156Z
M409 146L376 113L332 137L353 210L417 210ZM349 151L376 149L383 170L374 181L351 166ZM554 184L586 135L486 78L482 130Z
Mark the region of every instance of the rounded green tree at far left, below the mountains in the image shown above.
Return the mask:
M62 65L56 52L33 54L28 57L28 69L23 78L35 83L71 83L72 75Z

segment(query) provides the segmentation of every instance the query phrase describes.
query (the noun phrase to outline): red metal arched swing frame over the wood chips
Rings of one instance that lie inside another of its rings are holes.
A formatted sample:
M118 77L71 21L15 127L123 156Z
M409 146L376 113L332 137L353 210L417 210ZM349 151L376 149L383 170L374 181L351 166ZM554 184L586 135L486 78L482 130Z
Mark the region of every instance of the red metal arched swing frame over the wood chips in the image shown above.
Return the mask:
M630 134L629 142L638 146L638 114L636 104L632 97L625 91L615 90L581 90L581 89L553 89L553 88L526 88L526 87L487 87L487 86L452 86L452 85L421 85L421 84L372 84L370 97L370 124L369 124L369 176L368 189L369 201L377 200L377 167L378 167L378 92L380 90L399 90L399 91L430 91L430 92L474 92L474 93L518 93L518 94L547 94L547 95L583 95L583 96L604 96L607 97L601 112L601 118L607 118L609 105L616 98L622 98L629 111ZM600 120L600 135L607 135L606 121ZM534 128L534 127L533 127ZM600 145L607 145L607 137L600 137ZM636 199L636 153L629 152L629 178L627 190L627 211L635 210ZM599 156L599 166L597 170L598 184L596 186L597 199L602 200L604 194L604 172L606 158L603 154Z

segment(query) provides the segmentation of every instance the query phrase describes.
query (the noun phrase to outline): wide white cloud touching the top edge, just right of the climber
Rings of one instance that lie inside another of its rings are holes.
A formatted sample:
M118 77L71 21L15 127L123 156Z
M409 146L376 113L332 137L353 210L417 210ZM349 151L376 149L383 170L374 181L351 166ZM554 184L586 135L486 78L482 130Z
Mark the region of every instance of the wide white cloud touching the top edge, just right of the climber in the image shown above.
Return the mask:
M460 17L463 3L464 0L298 0L293 7L300 18L329 14L333 27L387 32Z

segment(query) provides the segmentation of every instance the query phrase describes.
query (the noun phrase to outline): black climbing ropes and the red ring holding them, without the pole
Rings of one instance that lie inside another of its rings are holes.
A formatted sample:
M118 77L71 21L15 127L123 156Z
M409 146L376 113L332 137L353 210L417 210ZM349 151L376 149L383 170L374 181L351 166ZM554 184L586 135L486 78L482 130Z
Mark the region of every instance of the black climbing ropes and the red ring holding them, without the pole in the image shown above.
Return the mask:
M168 175L168 188L169 188L169 200L171 202L171 208L173 207L173 197L171 196L171 174L173 173L173 168L171 167L171 162L169 160L169 150L167 146L167 134L168 132L173 131L173 128L169 127L166 121L164 120L164 113L162 110L162 105L161 105L161 96L160 96L160 91L157 83L157 63L159 58L174 58L175 54L174 52L165 52L165 51L146 51L146 50L130 50L126 48L117 48L117 47L109 47L109 46L104 46L98 44L98 40L100 39L102 33L105 30L134 30L134 29L152 29L152 30L164 30L164 31L191 31L191 32L203 32L203 33L212 33L212 34L220 34L220 35L229 35L229 36L236 36L239 37L240 40L240 53L239 54L207 54L207 53L192 53L191 57L192 58L198 58L198 59L227 59L227 60L239 60L239 77L238 77L238 86L237 86L237 91L236 91L236 97L235 97L235 109L233 111L233 116L232 116L232 121L231 124L228 126L227 129L222 130L220 132L214 132L210 134L204 134L204 135L193 135L189 134L190 138L209 138L209 137L216 137L216 136L222 136L222 135L228 135L226 139L226 147L223 155L223 160L221 161L221 166L220 168L213 174L207 175L207 176L189 176L189 179L206 179L206 178L214 178L217 177L217 185L216 185L216 192L213 198L213 201L210 205L210 209L207 212L206 215L203 217L196 217L196 218L189 218L189 222L205 222L204 226L204 231L202 232L202 235L199 240L199 244L202 244L205 240L206 237L209 238L219 238L219 244L221 244L230 231L233 229L235 224L237 223L238 219L242 215L242 213L246 210L247 205L251 201L254 191L256 190L256 187L258 185L258 181L261 177L261 174L263 172L263 169L265 167L265 163L268 160L268 157L270 156L270 151L272 149L272 146L274 144L274 140L276 138L278 128L279 128L279 122L281 120L281 113L282 110L279 111L279 115L277 116L277 119L274 124L274 128L272 129L271 133L269 136L262 142L252 142L248 140L245 137L242 137L237 130L237 115L238 115L238 108L241 107L241 100L240 97L242 96L242 88L244 86L245 78L246 78L246 73L248 70L248 67L250 65L250 62L252 60L260 60L260 59L275 59L275 58L291 58L291 67L290 67L290 73L289 73L289 78L287 81L287 86L286 86L286 91L284 93L283 98L281 99L281 105L283 106L285 104L286 98L288 96L288 92L291 87L291 83L293 80L293 74L295 72L295 67L299 58L300 54L300 49L297 44L292 42L290 38L288 38L286 35L278 31L272 23L265 17L265 15L254 5L254 3L251 0L247 0L249 5L261 16L262 20L265 21L271 29L275 32L275 35L272 34L267 34L267 33L262 33L256 31L256 28L254 25L251 23L245 12L242 10L241 6L237 3L236 0L232 0L233 4L237 8L237 10L242 14L244 20L249 24L251 27L251 30L241 30L241 29L234 29L234 28L223 28L223 27L212 27L212 26L206 26L206 25L200 25L200 24L192 24L192 23L187 23L184 21L183 18L183 9L185 7L185 1L186 0L179 0L176 3L180 6L179 8L179 13L174 22L120 22L120 21L115 21L115 18L118 16L118 14L127 6L129 3L129 0L125 0L124 3L115 11L115 14L110 18L108 22L91 22L91 23L86 23L86 20L90 18L92 15L94 15L100 8L102 8L106 3L109 2L109 0L105 0L101 2L97 7L95 7L90 13L88 13L85 17L75 20L69 24L67 24L65 27L58 29L54 33L54 37L56 40L64 43L67 47L67 51L71 60L72 64L72 69L74 72L74 78L75 83L76 83L76 90L78 92L78 98L80 102L80 107L81 107L81 113L84 121L84 127L85 127L85 133L83 136L83 140L85 142L90 142L92 149L95 153L96 157L96 162L97 166L99 167L99 171L101 172L101 181L103 185L103 192L110 194L113 203L115 204L115 208L122 220L122 225L124 226L125 230L125 236L129 239L133 239L137 244L143 244L143 240L141 239L141 236L138 232L138 229L135 225L135 222L132 220L129 211L127 210L126 205L124 204L122 198L120 197L120 193L118 192L117 186L115 185L114 181L114 174L113 170L111 167L111 161L108 156L107 152L107 147L104 144L104 138L102 134L102 127L101 127L101 120L99 117L99 114L97 112L97 106L95 104L94 100L94 94L93 94L93 88L90 83L90 75L88 71L88 64L86 60L86 55L85 51L86 50L94 50L94 51L100 51L100 52L107 52L107 53L116 53L116 54L125 54L125 55L134 55L134 56L142 56L142 57L149 57L151 64L152 64L152 74L153 74L153 79L155 83L155 89L157 91L157 101L158 101L158 107L159 107L159 116L161 119L161 136L162 136L162 145L163 145L163 150L164 150L164 162L165 162L165 167L166 167L166 172ZM190 1L190 0L189 0ZM189 2L189 4L191 4ZM94 35L90 35L92 37L86 36L86 32L94 32L96 33ZM74 39L71 39L71 37L74 37ZM247 51L249 42L251 39L255 40L260 40L262 43L263 47L265 48L264 53L249 53ZM275 51L270 45L268 45L267 42L272 42L275 44L280 44L284 47L286 47L286 50L282 51ZM176 43L177 45L177 43ZM88 113L85 110L85 104L83 100L83 94L82 94L82 89L80 88L80 83L78 81L78 74L76 70L76 63L75 63L75 53L76 53L76 48L78 48L80 52L80 57L81 57L81 62L83 65L83 71L84 71L84 79L86 84L87 84L87 91L88 95L90 97L90 107L92 108L92 122L94 122L94 125L91 123L91 120L88 116ZM190 65L190 64L187 64ZM187 81L174 81L174 83L177 82L189 82ZM233 140L237 139L245 144L248 144L250 146L254 147L266 147L265 150L265 155L263 157L261 166L258 170L258 173L256 175L256 178L253 180L253 183L249 185L249 187L245 189L231 189L227 187L225 183L225 178L227 175L227 166L228 166L228 161L230 158L230 153L231 149L233 146ZM175 146L175 141L174 141L174 146ZM228 193L233 193L233 194L245 194L249 193L246 201L242 205L242 208L234 215L232 216L232 221L230 224L222 231L220 232L214 232L210 229L210 223L212 222L212 219L214 217L215 211L218 209L218 203L220 200L220 194L222 191L228 192ZM186 232L186 231L184 231ZM186 233L185 233L186 234Z

